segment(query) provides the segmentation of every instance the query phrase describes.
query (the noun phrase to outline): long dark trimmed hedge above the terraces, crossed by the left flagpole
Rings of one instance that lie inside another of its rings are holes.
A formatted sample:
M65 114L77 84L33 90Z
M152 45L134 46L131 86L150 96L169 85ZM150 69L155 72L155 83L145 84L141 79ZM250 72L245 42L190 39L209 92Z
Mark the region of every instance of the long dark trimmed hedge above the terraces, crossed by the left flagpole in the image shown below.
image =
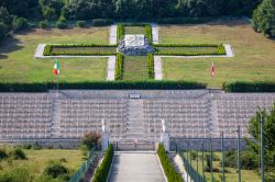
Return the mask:
M35 83L0 83L0 92L47 92L56 89L55 82ZM193 90L206 89L206 83L189 81L95 81L95 82L59 82L63 90Z

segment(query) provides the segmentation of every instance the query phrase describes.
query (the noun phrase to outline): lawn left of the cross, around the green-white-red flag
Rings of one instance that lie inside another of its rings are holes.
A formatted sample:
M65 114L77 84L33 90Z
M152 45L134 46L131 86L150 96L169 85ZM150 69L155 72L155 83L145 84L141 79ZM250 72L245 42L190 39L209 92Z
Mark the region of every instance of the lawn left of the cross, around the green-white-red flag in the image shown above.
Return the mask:
M108 27L33 30L7 38L0 45L0 82L54 81L55 59L34 59L40 43L108 44ZM59 59L61 80L106 79L106 58Z

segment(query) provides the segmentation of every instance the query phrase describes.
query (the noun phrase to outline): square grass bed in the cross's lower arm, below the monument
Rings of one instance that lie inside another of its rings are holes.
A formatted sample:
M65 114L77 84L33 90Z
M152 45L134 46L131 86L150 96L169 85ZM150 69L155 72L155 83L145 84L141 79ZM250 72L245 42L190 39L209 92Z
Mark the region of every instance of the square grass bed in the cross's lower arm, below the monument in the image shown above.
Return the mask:
M123 80L136 81L147 80L147 56L124 56L123 60Z

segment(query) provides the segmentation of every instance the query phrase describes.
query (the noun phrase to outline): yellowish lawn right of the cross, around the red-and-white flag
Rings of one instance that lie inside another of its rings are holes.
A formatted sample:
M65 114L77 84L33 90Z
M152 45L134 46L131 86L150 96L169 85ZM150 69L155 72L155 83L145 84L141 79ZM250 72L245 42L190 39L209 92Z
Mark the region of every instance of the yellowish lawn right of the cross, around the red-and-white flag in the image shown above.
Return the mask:
M161 43L231 44L237 55L234 58L164 58L165 79L200 81L219 88L230 80L275 81L275 41L255 33L246 22L165 25L161 26L160 36ZM213 82L210 77L212 61L217 69Z

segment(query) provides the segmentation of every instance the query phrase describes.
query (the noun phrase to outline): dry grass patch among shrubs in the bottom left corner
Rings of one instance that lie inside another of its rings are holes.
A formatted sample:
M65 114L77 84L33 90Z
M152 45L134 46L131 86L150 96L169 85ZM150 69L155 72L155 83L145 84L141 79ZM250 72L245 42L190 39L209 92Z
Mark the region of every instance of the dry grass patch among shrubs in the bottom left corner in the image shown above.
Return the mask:
M6 173L14 168L25 168L30 172L33 179L43 174L45 167L48 161L61 161L67 167L73 175L81 163L85 161L82 151L80 150L65 150L65 149L42 149L42 150L24 150L28 160L12 160L9 162L7 160L0 160L1 170L0 173Z

